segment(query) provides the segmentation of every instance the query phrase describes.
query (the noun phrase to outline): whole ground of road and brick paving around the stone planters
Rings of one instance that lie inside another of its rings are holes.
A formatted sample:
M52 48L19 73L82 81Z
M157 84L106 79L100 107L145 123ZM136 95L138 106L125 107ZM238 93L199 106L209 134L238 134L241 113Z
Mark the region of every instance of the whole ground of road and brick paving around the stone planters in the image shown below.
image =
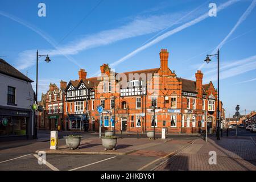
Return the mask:
M49 150L49 141L23 140L1 142L0 170L256 170L256 133L240 130L208 142L195 135L170 135L166 139L147 139L144 135L123 134L115 151L105 151L97 133L80 133L79 150L69 150L59 139L59 150ZM63 137L69 133L61 133ZM244 134L244 135L243 135ZM44 131L43 135L48 135ZM119 135L119 134L117 134ZM46 151L46 164L38 163L38 151ZM216 164L209 164L210 151L216 152ZM52 153L51 153L52 152ZM72 154L72 155L71 155Z

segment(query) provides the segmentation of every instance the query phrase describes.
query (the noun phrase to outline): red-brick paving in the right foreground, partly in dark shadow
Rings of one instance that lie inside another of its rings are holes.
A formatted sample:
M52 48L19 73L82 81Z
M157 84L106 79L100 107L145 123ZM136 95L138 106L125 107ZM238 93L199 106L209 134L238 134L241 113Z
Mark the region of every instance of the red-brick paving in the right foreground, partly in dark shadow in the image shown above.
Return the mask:
M217 164L210 165L209 151L216 151ZM250 137L215 137L197 140L180 154L171 156L168 161L155 170L256 170L256 146Z

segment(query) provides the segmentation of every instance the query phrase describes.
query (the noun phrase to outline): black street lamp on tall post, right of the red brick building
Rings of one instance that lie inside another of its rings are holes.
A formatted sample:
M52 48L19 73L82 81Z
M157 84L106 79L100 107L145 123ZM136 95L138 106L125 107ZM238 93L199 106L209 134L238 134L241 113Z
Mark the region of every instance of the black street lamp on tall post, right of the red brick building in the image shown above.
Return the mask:
M217 56L218 61L218 105L217 105L217 140L220 140L220 50L218 49L217 53L214 55L207 55L205 62L210 63L210 56Z

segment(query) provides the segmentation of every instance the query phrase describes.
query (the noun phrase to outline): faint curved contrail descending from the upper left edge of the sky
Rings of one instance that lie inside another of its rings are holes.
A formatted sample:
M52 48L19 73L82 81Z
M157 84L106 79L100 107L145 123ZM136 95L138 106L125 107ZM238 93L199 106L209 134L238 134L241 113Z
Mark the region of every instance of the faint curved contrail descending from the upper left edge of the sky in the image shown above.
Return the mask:
M19 24L22 24L23 26L30 28L30 30L36 32L36 34L40 35L44 40L46 40L49 44L52 45L52 47L54 47L55 49L59 50L55 45L56 42L50 37L48 36L45 32L43 32L42 30L40 30L39 28L33 26L32 24L26 22L25 20L22 20L14 15L11 14L7 14L3 11L0 11L0 14L5 16L6 18L9 18L11 20L14 20L15 22L18 22ZM61 52L60 52L61 53ZM73 60L70 56L68 55L64 55L63 53L61 53L63 56L65 56L69 61L71 61L72 63L76 64L78 67L81 68L81 66L79 65L79 63L77 63L77 61Z

